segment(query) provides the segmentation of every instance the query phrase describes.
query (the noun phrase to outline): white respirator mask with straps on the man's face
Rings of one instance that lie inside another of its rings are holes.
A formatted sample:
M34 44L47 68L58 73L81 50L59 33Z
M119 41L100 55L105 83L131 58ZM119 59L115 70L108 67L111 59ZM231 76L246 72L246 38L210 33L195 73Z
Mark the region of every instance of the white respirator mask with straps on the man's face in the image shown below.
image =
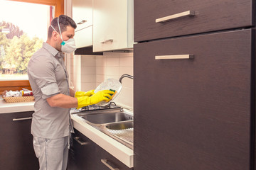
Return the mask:
M50 25L50 26L53 28L52 25ZM59 27L59 30L60 30L59 21L58 21L58 27ZM53 28L53 30L55 30L55 28ZM57 30L55 30L55 31L58 33ZM63 40L63 37L61 35L61 30L60 30L60 34L58 33L58 35L60 35L61 40ZM70 38L67 41L61 42L61 51L62 52L70 54L70 53L74 52L75 50L76 50L76 47L75 47L75 39L74 38Z

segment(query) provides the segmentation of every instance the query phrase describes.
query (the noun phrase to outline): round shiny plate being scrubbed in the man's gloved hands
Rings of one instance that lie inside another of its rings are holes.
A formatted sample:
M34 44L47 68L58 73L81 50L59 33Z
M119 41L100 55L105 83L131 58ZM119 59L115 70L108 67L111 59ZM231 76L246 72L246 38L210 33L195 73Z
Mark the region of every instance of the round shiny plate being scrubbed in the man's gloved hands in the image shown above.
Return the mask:
M114 94L113 98L109 102L101 101L97 103L98 106L105 106L111 101L114 100L119 94L119 92L122 90L122 84L117 79L106 79L103 81L97 88L95 89L95 93L102 90L115 90L116 93Z

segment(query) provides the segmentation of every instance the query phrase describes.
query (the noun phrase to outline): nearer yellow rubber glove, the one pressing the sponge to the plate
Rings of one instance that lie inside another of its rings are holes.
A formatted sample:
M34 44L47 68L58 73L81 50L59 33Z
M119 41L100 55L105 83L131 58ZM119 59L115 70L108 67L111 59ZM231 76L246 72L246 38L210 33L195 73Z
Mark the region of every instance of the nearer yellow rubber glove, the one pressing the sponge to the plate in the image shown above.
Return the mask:
M78 108L97 104L100 101L108 102L112 99L112 96L110 94L114 94L114 92L110 90L103 90L103 91L98 91L96 94L90 97L88 96L78 97Z

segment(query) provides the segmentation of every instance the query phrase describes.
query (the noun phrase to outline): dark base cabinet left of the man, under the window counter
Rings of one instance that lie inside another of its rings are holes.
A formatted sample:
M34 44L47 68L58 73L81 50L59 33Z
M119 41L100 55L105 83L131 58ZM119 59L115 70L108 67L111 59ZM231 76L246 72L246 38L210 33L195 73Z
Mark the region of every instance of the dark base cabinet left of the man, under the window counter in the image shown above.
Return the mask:
M0 169L39 169L31 135L32 114L32 111L0 114Z

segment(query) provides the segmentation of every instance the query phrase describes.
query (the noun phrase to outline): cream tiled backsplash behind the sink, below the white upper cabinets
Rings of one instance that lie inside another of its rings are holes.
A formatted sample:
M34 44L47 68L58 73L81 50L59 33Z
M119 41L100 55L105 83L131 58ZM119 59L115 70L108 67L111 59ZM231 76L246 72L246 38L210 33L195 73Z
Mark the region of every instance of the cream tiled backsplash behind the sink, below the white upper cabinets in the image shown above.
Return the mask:
M95 89L105 79L133 76L133 52L104 52L103 55L67 57L67 68L76 91ZM72 85L70 84L70 85ZM133 108L133 80L122 79L122 91L114 102Z

